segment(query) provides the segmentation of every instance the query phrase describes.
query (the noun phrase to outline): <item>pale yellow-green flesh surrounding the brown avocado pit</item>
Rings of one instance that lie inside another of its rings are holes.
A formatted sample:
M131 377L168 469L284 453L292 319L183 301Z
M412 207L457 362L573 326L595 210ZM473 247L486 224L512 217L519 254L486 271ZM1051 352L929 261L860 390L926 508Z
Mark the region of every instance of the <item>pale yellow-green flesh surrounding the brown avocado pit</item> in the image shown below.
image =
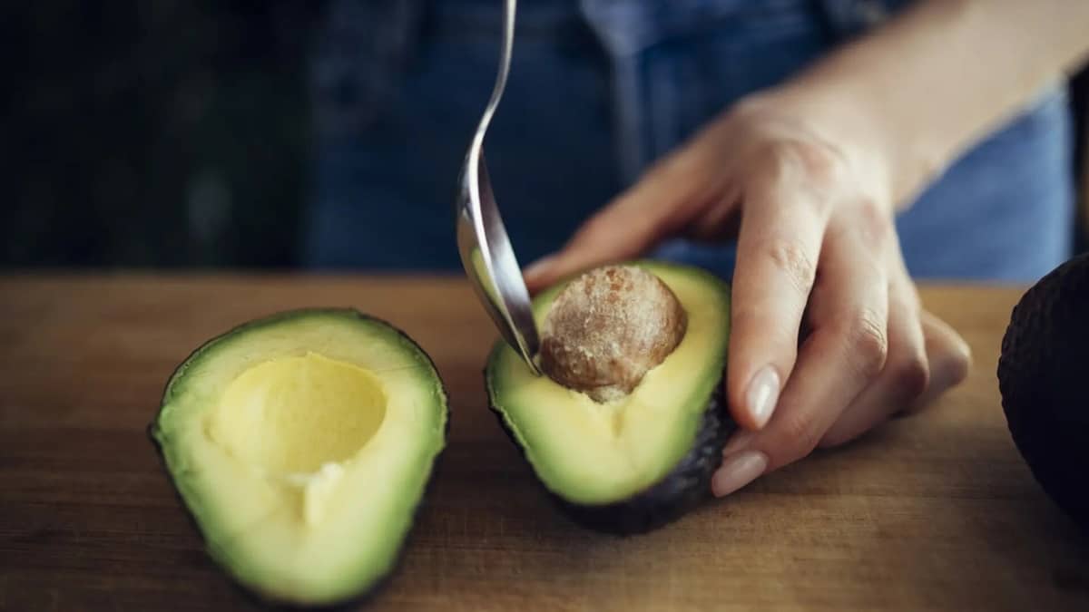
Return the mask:
M669 474L692 449L725 366L727 286L699 270L639 265L669 285L688 323L673 353L623 400L599 404L548 377L536 377L505 344L497 344L489 360L493 405L543 484L572 502L623 500ZM535 299L538 323L559 289Z

